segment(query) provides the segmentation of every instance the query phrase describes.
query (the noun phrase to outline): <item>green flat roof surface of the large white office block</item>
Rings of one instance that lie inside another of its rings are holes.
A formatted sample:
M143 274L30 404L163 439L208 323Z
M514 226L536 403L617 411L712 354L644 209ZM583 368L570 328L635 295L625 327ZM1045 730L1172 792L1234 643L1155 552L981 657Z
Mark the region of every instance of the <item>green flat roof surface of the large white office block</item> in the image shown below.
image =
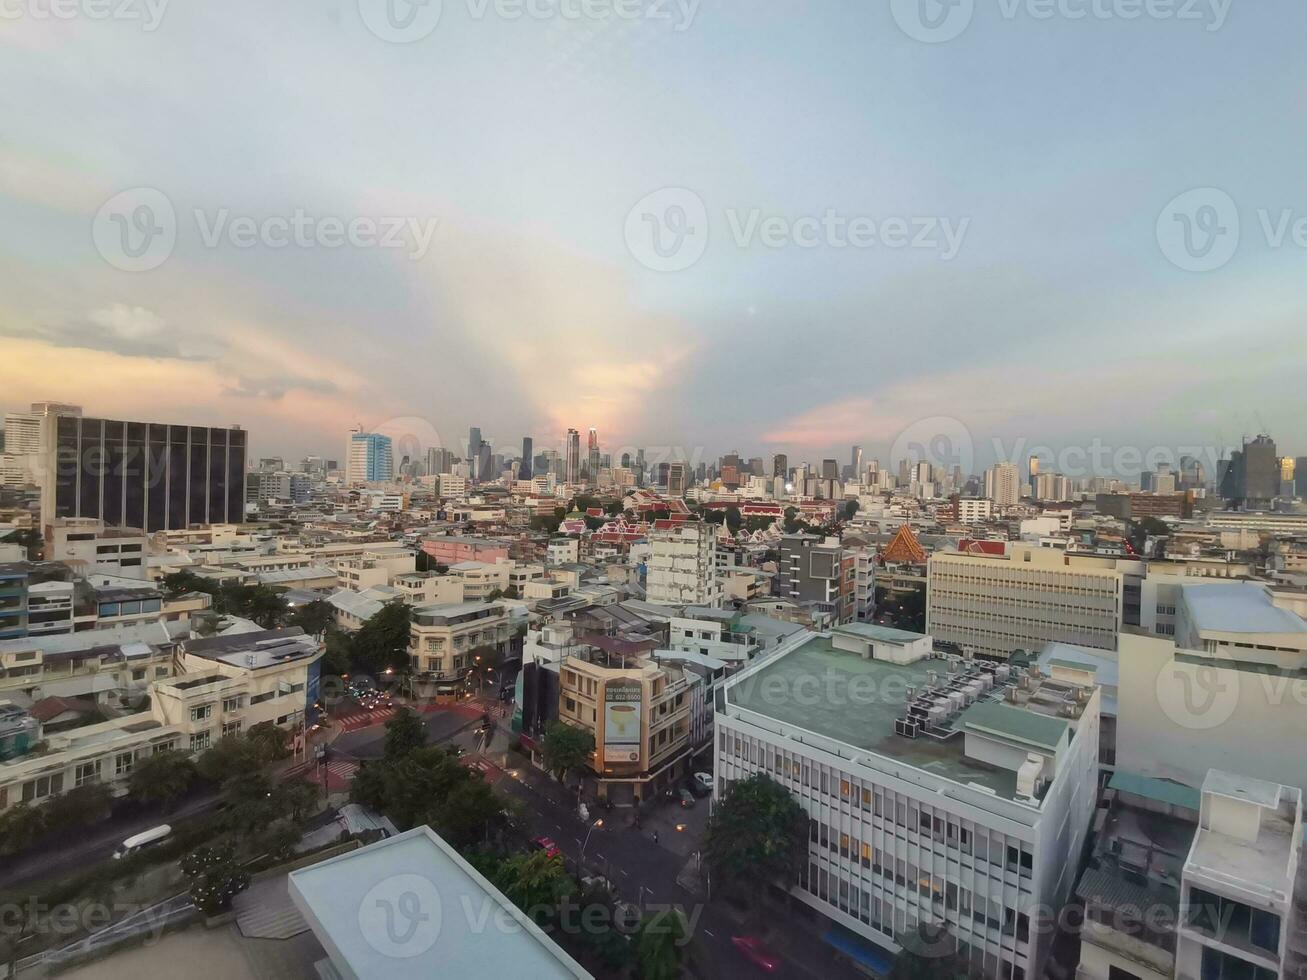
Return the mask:
M996 796L1014 800L1016 772L963 754L962 728L968 715L976 708L1008 706L996 699L976 702L954 719L955 734L946 741L929 736L906 738L895 733L894 723L907 710L907 687L924 686L931 670L946 677L949 661L928 657L899 665L864 660L857 653L835 649L830 636L814 635L793 651L762 661L762 666L731 683L725 699L728 706L806 729L853 750L874 753L890 763L912 766L962 785L975 783ZM1012 713L1034 715L1017 707L1012 707ZM993 719L978 716L976 720L993 724ZM1040 733L1042 737L1047 734Z

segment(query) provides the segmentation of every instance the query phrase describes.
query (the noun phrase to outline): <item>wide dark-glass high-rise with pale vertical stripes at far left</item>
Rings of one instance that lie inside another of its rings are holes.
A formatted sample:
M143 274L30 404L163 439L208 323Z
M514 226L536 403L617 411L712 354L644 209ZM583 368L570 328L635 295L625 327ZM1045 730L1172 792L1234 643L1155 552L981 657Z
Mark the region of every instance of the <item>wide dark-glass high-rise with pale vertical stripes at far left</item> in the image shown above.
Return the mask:
M244 519L246 431L77 416L42 421L42 524L178 531Z

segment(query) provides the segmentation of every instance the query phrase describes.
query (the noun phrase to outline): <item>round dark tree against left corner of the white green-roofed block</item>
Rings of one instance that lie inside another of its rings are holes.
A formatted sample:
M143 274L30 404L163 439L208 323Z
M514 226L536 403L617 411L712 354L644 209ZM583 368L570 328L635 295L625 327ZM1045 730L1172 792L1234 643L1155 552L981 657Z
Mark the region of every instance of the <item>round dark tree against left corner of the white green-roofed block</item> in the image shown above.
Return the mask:
M708 819L708 865L745 895L762 895L772 882L788 887L806 855L808 813L770 776L733 783Z

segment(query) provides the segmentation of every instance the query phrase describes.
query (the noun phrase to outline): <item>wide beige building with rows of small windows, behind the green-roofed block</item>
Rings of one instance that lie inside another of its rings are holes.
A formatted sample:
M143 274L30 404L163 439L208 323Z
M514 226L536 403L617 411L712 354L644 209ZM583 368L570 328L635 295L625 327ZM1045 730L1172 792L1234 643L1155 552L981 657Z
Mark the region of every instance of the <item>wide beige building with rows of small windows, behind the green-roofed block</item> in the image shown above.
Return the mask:
M1111 559L1012 545L1005 555L936 551L925 629L936 640L1006 659L1048 643L1116 649L1125 572Z

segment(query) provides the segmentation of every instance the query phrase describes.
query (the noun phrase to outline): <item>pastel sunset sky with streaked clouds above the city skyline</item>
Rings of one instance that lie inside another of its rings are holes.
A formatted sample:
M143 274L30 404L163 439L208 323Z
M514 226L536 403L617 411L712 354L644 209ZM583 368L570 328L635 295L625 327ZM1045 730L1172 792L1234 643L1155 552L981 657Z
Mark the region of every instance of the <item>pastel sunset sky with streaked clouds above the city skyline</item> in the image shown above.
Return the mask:
M51 3L0 0L0 409L1307 452L1299 0Z

